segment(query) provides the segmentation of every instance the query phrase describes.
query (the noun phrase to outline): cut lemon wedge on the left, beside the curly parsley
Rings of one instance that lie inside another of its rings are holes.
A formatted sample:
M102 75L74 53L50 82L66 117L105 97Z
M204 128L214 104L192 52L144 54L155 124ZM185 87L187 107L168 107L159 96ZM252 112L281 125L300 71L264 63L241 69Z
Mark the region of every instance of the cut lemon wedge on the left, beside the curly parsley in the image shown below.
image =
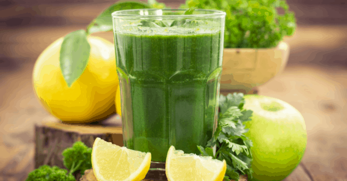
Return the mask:
M92 166L98 181L141 181L151 164L151 153L120 147L97 137Z

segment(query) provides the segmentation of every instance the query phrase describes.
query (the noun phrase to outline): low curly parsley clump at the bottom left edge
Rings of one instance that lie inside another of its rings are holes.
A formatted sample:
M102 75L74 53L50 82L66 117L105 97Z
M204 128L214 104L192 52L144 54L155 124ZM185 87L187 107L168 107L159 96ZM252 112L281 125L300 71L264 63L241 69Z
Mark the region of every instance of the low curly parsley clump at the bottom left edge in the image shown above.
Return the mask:
M30 172L25 181L76 181L76 179L71 174L67 174L65 169L43 165Z

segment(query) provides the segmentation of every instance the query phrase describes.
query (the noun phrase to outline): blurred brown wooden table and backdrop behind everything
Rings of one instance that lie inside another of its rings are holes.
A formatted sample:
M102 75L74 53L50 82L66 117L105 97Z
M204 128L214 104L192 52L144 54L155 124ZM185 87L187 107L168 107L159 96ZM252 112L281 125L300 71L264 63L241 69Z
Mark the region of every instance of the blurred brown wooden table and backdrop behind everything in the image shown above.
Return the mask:
M177 7L184 0L159 0ZM42 50L83 29L115 0L0 1L0 181L33 170L34 124L50 115L32 88ZM298 109L308 143L286 181L347 181L347 1L288 0L297 18L285 71L259 88ZM113 42L112 33L98 34Z

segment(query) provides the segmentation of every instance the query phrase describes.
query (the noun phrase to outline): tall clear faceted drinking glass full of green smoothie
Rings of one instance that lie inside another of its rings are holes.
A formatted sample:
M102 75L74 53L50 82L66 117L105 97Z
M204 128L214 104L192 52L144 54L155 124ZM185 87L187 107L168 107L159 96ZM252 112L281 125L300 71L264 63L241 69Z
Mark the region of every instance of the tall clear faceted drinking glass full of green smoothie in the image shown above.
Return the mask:
M217 127L226 13L186 10L112 14L124 146L154 162L199 154Z

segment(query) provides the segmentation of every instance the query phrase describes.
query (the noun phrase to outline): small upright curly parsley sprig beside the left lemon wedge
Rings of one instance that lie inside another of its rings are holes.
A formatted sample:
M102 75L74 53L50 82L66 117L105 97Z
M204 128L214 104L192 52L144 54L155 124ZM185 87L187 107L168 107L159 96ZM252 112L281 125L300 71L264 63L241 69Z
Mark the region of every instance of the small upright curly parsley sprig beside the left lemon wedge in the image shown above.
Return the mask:
M72 147L64 149L63 164L69 169L69 174L80 171L84 175L84 171L92 168L92 148L86 146L83 142L77 141Z

